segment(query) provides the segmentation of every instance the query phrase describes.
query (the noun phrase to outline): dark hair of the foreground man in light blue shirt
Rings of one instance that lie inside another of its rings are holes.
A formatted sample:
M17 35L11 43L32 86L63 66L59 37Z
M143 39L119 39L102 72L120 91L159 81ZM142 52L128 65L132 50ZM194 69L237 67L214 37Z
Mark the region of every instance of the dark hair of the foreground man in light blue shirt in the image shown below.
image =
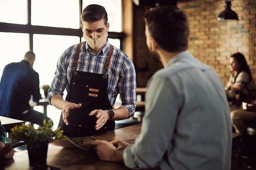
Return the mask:
M175 6L146 11L144 20L150 35L166 51L184 51L188 47L189 23L184 11Z

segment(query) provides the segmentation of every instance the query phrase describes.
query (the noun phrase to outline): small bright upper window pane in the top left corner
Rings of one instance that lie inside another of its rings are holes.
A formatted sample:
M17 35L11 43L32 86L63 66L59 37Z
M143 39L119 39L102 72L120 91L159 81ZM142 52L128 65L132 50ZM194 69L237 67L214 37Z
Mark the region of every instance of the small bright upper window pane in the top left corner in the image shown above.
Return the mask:
M27 0L0 0L0 22L27 24Z

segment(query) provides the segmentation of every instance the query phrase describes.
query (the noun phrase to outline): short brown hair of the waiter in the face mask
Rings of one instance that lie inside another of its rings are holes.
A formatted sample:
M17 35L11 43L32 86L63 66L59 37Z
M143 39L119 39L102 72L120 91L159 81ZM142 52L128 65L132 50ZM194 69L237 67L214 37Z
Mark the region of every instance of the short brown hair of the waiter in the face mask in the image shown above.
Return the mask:
M103 19L105 25L108 23L108 14L106 9L97 4L91 4L85 7L80 17L81 21L85 22L96 22Z

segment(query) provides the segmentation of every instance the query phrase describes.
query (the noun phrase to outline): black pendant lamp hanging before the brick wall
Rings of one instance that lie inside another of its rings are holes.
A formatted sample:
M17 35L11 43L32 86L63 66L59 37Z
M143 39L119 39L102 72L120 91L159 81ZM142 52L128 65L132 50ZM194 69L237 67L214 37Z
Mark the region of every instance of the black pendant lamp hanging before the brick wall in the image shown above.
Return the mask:
M222 21L222 20L239 20L238 16L236 14L235 11L232 11L231 9L231 2L230 0L225 0L226 6L225 6L225 10L222 11L219 15L217 20L218 21Z

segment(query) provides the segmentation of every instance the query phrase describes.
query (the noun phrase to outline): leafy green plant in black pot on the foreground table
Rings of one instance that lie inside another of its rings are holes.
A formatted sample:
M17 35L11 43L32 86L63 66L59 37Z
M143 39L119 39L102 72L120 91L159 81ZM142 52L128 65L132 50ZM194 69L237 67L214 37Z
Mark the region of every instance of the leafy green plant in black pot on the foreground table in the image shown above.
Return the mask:
M52 126L51 120L47 122L44 120L43 126L39 126L37 129L31 124L21 124L11 128L10 139L12 141L24 141L27 144L30 165L46 164L48 144L55 140L67 138L63 135L61 127L53 130Z

